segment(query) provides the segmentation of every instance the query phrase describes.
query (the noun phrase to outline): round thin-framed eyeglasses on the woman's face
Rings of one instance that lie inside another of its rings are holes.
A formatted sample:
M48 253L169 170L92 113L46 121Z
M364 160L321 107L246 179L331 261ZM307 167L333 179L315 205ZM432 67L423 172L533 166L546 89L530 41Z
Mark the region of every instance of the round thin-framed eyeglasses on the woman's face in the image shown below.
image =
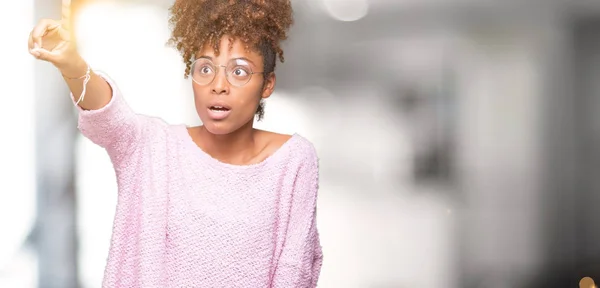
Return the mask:
M209 59L198 58L192 63L192 80L198 85L208 85L215 80L219 67L225 68L227 81L237 87L248 84L253 74L264 73L252 72L250 64L244 59L232 59L227 65L215 65Z

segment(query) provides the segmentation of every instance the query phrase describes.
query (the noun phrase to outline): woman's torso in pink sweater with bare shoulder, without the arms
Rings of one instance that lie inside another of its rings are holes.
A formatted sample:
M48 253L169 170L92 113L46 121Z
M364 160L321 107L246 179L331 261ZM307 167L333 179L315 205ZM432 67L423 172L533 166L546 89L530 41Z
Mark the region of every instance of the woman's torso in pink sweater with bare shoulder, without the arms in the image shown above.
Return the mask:
M117 170L106 283L134 275L122 286L268 287L298 173L316 161L312 144L257 131L255 163L243 166L211 158L183 125L149 131Z

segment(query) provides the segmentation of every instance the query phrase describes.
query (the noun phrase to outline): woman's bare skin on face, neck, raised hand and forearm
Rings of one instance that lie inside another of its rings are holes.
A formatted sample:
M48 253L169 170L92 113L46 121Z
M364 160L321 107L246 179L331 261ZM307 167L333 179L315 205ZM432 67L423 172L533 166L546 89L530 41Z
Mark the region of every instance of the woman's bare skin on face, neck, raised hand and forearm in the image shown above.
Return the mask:
M87 64L71 41L71 1L62 0L62 19L42 19L29 35L28 48L35 58L52 63L63 74L73 95L81 95ZM209 56L217 65L231 58L245 57L254 71L262 71L263 57L257 51L246 51L243 43L235 40L229 49L229 37L220 42L220 55L206 46L197 57ZM198 116L204 126L189 128L192 140L213 158L233 165L249 165L263 161L279 149L291 136L254 129L254 113L261 98L268 98L275 88L276 77L254 74L243 87L231 86L222 70L209 85L200 86L191 81ZM111 100L112 91L102 77L91 73L85 99L79 106L85 110L101 109ZM231 115L222 121L212 121L207 116L207 103L222 98L231 106Z

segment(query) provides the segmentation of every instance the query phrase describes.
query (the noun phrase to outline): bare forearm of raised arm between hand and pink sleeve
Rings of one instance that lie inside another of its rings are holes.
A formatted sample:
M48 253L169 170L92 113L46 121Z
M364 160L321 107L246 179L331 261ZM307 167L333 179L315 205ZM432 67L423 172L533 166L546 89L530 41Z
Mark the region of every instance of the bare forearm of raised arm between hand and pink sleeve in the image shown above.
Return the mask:
M85 75L87 64L78 57L77 61L73 61L73 65L63 67L60 72L69 90L73 93L75 101L79 100L84 89L84 79L77 79ZM104 78L96 75L94 71L90 71L90 80L86 85L85 95L79 106L84 110L98 110L106 106L112 97L112 89Z

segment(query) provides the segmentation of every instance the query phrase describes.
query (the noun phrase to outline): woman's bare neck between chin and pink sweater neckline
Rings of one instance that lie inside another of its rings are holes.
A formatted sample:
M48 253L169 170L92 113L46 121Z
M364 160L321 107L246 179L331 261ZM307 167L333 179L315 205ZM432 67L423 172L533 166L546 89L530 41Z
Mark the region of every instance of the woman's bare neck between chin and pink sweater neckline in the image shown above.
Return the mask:
M255 130L252 124L250 121L225 135L212 134L202 126L199 131L202 149L222 162L243 164L255 156Z

